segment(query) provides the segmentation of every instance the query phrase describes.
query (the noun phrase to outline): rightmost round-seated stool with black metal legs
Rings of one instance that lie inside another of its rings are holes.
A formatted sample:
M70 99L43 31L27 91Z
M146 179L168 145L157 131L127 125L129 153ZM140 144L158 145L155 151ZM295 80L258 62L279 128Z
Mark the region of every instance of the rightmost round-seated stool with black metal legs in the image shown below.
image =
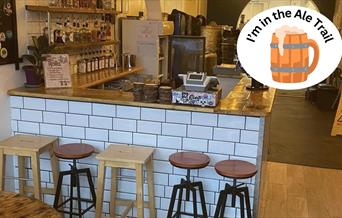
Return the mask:
M235 207L236 196L240 198L240 217L245 217L244 200L246 202L247 217L252 217L251 204L249 201L248 187L239 184L238 179L248 179L257 173L257 168L254 164L241 160L224 160L216 163L216 172L226 178L233 179L233 186L226 183L224 190L220 192L219 200L217 202L214 218L223 218L224 210L227 203L227 196L232 195L232 207Z

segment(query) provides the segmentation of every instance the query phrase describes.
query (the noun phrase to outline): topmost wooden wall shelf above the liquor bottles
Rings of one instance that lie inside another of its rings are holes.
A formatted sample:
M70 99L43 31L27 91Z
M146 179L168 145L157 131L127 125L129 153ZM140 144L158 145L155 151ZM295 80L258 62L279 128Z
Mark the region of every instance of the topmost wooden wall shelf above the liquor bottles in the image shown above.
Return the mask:
M26 5L26 10L35 12L50 13L75 13L75 14L117 14L114 9L93 9L93 8L59 8L49 6Z

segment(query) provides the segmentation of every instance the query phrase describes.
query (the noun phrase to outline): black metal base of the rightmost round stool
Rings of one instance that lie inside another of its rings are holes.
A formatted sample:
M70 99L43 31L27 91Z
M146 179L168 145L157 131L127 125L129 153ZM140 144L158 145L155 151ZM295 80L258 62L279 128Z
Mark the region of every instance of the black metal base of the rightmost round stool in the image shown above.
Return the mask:
M234 185L231 186L226 183L224 190L220 192L219 200L217 202L214 218L223 218L224 211L227 204L227 197L229 194L232 195L232 207L235 207L236 196L240 199L240 217L245 217L245 203L247 210L247 217L252 218L251 204L249 201L249 191L248 187L241 187L241 185L236 185L236 180L234 179Z

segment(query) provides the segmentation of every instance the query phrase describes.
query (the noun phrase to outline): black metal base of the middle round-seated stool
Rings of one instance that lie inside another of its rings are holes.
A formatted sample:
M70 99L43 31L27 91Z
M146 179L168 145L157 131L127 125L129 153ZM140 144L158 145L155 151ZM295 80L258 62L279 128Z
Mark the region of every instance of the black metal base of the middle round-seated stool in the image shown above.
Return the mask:
M200 199L201 199L201 205L202 205L202 215L198 214L197 211L197 196L196 196L196 187L198 187L198 191L200 194ZM182 212L181 211L181 206L182 206L182 201L183 201L183 190L185 189L185 200L189 201L190 200L190 192L192 192L192 200L193 200L193 208L194 208L194 213L187 213L187 212ZM178 204L177 204L177 210L175 212L174 215L172 215L173 213L173 208L176 202L176 195L177 192L179 192L178 194ZM207 218L208 214L207 214L207 208L205 205L205 199L204 199L204 191L203 191L203 184L202 182L191 182L190 181L190 170L188 170L187 173L187 179L181 180L181 183L178 185L173 186L173 190L172 190L172 196L171 196L171 201L170 201L170 206L169 206L169 211L167 213L167 218L180 218L181 215L188 215L188 216L193 216L194 218Z

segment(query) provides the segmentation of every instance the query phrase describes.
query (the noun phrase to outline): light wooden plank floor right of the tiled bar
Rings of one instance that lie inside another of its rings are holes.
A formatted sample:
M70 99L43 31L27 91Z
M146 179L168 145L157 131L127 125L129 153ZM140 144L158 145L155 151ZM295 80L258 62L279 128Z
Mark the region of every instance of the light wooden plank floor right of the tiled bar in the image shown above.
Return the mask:
M266 163L259 217L342 218L342 170Z

